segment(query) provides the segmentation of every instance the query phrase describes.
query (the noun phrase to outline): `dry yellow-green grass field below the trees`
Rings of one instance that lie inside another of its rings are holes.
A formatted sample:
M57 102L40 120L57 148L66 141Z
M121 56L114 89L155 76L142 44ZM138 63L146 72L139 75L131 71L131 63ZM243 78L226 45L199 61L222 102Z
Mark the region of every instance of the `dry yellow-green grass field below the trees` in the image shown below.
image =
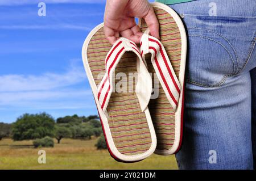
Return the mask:
M55 140L56 141L56 140ZM119 163L108 150L97 150L93 140L63 139L54 148L35 149L32 141L0 141L2 169L177 169L174 155L151 155L137 163ZM46 164L38 163L38 150L46 151Z

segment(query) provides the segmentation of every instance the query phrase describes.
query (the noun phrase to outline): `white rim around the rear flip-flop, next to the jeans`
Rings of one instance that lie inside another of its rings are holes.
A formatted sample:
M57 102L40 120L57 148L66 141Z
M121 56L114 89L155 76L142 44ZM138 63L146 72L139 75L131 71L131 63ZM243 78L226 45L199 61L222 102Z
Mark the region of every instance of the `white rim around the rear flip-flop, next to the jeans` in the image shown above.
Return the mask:
M181 36L181 60L180 60L180 72L179 72L179 82L181 85L181 94L179 98L179 103L176 108L175 112L175 140L174 145L172 145L172 148L169 150L155 150L156 154L159 155L170 155L174 154L180 145L180 134L181 134L181 111L183 106L183 91L184 91L184 78L185 78L185 64L186 64L186 56L187 56L187 35L186 31L183 25L183 22L181 21L179 15L171 9L171 7L164 5L163 3L154 2L151 4L153 7L158 7L160 9L163 9L167 11L172 18L174 18L175 22L177 23L177 26L180 30L180 36ZM141 26L141 19L139 19L139 27Z

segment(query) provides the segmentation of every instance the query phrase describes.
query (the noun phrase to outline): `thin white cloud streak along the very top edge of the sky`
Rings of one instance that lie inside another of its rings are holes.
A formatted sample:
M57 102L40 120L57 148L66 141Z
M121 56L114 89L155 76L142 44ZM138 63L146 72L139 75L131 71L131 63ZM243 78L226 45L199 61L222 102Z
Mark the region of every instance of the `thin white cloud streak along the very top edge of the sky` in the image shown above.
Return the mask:
M45 3L105 3L105 0L1 0L0 6L30 5L39 2Z

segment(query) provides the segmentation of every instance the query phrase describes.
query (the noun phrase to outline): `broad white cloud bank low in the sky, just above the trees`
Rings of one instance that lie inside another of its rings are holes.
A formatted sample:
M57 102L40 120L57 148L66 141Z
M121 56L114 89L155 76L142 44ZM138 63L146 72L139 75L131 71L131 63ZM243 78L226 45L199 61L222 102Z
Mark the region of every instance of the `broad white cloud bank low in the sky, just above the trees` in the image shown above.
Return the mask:
M73 60L65 73L42 75L1 75L0 109L56 110L86 108L92 92L86 85L85 71ZM77 85L79 87L75 88ZM94 106L94 105L93 105ZM89 104L89 107L93 107Z

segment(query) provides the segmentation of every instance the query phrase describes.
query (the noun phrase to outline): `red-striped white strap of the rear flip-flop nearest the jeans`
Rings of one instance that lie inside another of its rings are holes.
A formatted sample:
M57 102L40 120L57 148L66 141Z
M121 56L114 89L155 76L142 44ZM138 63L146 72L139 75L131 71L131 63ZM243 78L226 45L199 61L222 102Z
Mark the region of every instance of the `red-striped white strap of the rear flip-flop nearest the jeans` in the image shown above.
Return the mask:
M163 44L155 37L148 35L148 33L149 31L147 30L141 38L142 58L144 60L145 54L147 53L152 54L151 62L156 75L163 87L167 99L169 100L172 108L174 108L174 111L176 111L181 90L179 80L176 77Z

